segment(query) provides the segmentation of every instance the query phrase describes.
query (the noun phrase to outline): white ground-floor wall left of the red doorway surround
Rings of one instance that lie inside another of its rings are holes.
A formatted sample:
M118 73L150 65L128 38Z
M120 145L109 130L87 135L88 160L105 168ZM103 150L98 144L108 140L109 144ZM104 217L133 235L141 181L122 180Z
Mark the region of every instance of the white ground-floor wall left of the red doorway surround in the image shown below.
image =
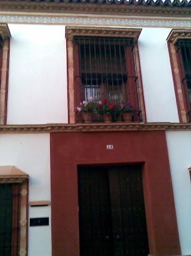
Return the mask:
M29 174L29 201L51 200L50 134L0 134L0 165ZM29 218L49 217L49 226L29 227L29 256L51 256L51 206L29 207Z

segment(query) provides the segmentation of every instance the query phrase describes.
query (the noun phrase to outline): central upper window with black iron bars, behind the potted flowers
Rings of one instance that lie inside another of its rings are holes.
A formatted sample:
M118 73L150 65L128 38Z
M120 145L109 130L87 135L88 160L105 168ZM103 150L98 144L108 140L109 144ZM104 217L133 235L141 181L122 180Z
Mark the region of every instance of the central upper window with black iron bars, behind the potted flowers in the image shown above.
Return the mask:
M97 103L104 99L115 104L130 103L134 119L142 120L131 38L74 37L74 67L76 107L90 97Z

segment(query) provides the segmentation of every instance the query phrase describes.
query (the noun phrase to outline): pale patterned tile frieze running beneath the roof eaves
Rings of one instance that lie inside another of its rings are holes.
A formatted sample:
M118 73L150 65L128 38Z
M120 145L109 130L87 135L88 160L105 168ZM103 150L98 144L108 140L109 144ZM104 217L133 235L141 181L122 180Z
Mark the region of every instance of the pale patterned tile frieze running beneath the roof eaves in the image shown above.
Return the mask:
M0 2L1 3L1 2ZM143 14L142 14L143 15ZM191 10L190 10L191 17ZM33 23L33 24L55 24L55 25L72 25L72 26L108 26L108 27L161 27L161 28L191 28L191 19L183 19L182 17L171 19L162 19L159 17L131 17L129 15L124 17L87 17L82 14L79 16L67 16L67 14L22 14L17 13L5 14L1 13L0 22L2 23Z

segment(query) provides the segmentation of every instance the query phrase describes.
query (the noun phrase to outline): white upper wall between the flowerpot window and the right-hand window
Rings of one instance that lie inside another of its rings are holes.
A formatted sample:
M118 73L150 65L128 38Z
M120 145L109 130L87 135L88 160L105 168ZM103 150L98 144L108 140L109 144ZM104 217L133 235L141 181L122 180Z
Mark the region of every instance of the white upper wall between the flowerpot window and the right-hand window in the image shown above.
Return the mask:
M143 28L138 38L147 122L179 122L167 46L170 31Z

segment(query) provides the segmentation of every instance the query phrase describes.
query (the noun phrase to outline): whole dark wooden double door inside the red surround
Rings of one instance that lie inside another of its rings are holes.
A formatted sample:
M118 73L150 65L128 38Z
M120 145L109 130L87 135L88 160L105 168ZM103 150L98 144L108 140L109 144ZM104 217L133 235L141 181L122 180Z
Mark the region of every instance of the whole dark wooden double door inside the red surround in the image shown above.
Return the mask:
M140 165L78 167L81 256L149 254Z

